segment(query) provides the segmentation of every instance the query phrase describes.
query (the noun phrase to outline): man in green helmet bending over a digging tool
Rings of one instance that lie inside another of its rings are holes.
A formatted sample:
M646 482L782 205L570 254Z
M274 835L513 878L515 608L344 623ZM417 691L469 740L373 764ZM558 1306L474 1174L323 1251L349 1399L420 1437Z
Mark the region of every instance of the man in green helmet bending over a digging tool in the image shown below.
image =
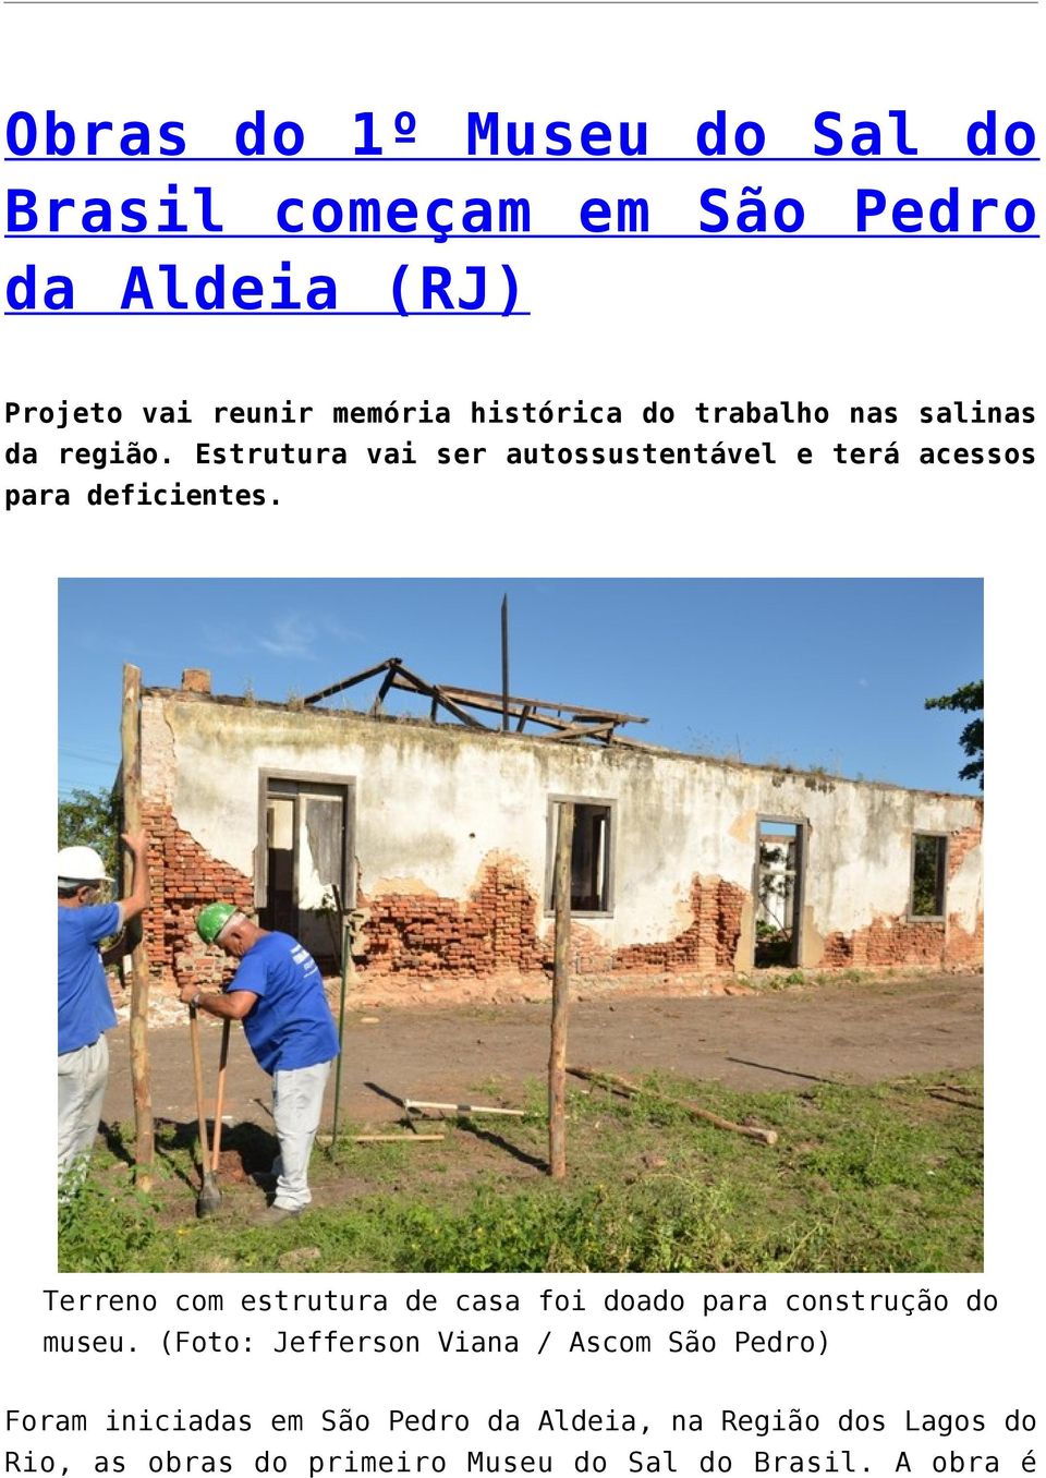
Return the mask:
M276 1190L257 1218L275 1227L312 1200L309 1156L319 1129L324 1089L338 1055L338 1035L324 978L309 950L290 934L262 928L232 903L208 903L196 933L239 961L225 990L180 990L186 1005L226 1021L242 1021L259 1067L272 1076L272 1111L279 1140Z

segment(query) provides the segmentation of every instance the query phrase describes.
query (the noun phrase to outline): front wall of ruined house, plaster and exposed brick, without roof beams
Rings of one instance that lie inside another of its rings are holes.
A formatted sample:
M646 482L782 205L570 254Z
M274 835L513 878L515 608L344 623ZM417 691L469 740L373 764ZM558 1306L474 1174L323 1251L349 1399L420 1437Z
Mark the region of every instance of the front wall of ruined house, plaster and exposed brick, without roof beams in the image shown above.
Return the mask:
M352 872L375 974L548 964L550 795L613 803L613 907L573 921L581 971L749 968L761 816L807 826L804 967L980 959L972 797L158 689L143 695L142 757L157 832L146 940L165 975L220 973L191 933L199 903L257 902L262 770L355 783ZM940 922L907 916L913 831L948 837Z

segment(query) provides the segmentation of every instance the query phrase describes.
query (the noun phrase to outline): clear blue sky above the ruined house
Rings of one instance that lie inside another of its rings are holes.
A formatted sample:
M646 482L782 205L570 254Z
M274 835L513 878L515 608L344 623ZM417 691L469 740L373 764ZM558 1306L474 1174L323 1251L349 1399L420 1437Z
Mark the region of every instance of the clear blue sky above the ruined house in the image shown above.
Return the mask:
M643 714L625 733L672 749L975 789L965 720L923 699L982 674L977 579L64 579L59 789L112 780L124 662L276 702L387 656L499 689L504 593L514 693Z

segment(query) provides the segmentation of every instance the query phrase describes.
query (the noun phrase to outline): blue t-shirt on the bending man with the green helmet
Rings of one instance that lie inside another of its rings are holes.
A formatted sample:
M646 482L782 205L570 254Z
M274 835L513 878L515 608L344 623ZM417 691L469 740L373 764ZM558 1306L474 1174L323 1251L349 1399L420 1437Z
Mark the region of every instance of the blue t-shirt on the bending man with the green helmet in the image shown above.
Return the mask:
M244 1017L244 1035L266 1073L315 1067L338 1055L319 965L290 934L263 934L226 990L251 990L259 998Z

